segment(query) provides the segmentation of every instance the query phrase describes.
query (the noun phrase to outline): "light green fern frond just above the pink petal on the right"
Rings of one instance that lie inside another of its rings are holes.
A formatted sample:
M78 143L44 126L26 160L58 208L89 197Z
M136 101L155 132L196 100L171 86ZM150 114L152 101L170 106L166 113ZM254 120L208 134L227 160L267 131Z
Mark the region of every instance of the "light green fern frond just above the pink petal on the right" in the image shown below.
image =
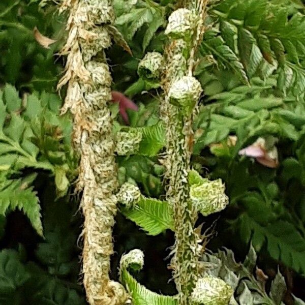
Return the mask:
M283 99L275 96L273 86L275 82L260 83L257 78L252 79L251 87L238 86L227 92L210 96L211 113L201 113L198 120L199 131L204 130L196 138L194 152L225 140L229 134L236 134L243 128L243 141L262 134L272 134L278 138L296 140L298 132L304 126L300 118L305 112L295 114L296 107L301 109L296 98ZM215 108L214 105L217 105ZM203 108L204 109L204 108ZM243 127L242 127L243 126ZM240 139L241 141L241 139Z

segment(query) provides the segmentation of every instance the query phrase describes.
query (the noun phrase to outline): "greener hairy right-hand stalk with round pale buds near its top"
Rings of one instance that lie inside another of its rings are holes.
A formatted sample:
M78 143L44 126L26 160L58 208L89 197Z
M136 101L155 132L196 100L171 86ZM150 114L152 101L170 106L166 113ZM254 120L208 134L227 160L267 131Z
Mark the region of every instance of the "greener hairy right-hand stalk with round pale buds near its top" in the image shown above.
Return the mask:
M169 18L166 29L172 39L165 50L166 69L162 79L165 98L161 114L167 140L166 196L173 205L175 221L171 266L181 305L189 304L199 277L198 235L194 230L197 212L189 199L187 178L193 147L193 110L202 91L192 71L202 38L205 6L205 1L193 1L189 10L178 9Z

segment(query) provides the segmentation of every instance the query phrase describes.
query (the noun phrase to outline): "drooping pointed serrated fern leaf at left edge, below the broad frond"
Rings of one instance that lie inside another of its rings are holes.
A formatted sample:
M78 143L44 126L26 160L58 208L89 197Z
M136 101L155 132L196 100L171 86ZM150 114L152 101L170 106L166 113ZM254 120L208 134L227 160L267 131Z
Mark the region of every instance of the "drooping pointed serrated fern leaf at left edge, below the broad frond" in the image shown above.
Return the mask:
M0 214L5 215L7 211L15 209L22 210L31 221L32 226L39 235L43 235L39 199L33 187L29 187L36 178L32 174L23 179L5 179L0 182Z

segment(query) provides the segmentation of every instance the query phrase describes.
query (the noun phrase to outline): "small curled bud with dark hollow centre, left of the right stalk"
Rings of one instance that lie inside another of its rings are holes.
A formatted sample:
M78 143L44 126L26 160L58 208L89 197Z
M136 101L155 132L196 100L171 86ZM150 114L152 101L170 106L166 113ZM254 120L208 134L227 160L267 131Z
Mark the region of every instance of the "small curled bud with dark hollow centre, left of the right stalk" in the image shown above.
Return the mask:
M158 52L148 52L139 63L138 74L142 78L158 80L163 67L163 56Z

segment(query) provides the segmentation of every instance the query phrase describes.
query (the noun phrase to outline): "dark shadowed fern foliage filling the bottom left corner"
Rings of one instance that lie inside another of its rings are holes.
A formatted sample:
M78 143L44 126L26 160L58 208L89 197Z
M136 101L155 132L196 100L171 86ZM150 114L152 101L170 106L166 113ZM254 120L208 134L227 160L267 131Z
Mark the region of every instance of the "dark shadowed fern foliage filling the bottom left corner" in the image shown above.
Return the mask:
M55 202L54 191L49 185L45 186L45 194L41 194L45 240L35 246L35 256L28 257L30 254L20 244L18 251L5 249L0 253L0 300L3 304L86 303L77 284L77 202L69 203L67 198Z

